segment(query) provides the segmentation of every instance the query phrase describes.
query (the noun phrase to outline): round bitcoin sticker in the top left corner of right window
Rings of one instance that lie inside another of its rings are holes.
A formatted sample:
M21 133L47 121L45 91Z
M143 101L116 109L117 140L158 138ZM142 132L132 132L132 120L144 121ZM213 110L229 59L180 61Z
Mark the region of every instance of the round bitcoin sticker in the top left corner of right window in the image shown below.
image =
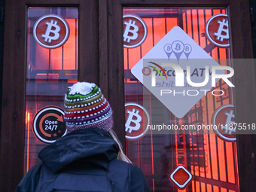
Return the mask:
M147 37L147 27L142 18L136 15L123 15L123 47L138 47Z

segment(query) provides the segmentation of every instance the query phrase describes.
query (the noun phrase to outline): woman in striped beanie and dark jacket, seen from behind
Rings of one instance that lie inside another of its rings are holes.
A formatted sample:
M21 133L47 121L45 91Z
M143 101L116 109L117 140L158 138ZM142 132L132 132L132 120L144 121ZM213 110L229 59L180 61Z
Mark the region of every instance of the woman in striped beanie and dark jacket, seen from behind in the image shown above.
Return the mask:
M45 147L17 192L150 191L142 170L123 154L111 106L99 87L78 82L65 96L68 133Z

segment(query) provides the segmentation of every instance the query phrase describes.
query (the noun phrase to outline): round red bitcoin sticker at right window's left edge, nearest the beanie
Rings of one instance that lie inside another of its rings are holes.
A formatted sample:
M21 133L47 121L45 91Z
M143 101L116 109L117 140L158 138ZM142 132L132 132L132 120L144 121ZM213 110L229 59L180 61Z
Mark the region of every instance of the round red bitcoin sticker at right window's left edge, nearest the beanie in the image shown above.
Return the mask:
M125 104L126 111L126 139L139 139L148 132L150 116L148 111L137 103L128 102Z

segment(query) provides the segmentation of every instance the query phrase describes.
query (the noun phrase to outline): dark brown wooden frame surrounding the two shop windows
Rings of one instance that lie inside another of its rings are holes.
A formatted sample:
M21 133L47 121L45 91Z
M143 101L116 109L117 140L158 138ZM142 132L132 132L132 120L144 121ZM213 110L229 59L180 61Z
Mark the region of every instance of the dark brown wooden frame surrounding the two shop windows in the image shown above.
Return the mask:
M124 144L123 7L227 7L231 56L252 58L248 0L10 0L5 8L5 53L2 92L0 190L14 191L23 177L26 87L26 7L79 8L78 80L99 84L114 111L114 130ZM86 34L86 35L85 35ZM85 46L86 45L86 46ZM246 67L245 67L246 65ZM254 123L254 64L235 64L233 81L236 123ZM238 135L240 191L256 188L256 136Z

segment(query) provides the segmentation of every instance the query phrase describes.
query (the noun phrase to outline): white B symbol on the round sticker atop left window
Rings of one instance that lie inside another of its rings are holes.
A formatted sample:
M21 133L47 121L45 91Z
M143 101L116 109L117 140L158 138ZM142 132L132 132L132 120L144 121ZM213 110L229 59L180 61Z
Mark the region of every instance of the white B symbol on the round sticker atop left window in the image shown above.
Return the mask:
M51 43L52 40L57 40L59 38L60 27L57 25L57 23L58 22L56 20L50 20L50 23L46 22L46 32L45 34L41 35L44 38L44 41ZM53 33L54 36L50 36L50 33Z

